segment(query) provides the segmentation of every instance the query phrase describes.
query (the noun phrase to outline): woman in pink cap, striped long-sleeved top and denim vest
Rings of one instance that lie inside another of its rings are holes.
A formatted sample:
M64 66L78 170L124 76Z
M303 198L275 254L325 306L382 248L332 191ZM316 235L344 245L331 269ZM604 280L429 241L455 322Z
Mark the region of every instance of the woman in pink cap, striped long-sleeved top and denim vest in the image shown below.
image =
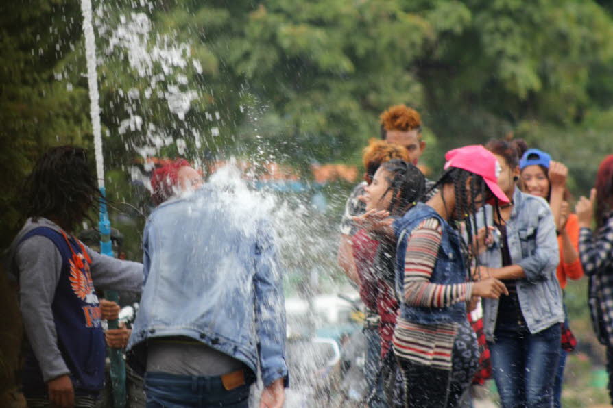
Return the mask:
M498 298L507 293L497 279L468 281L468 249L457 227L457 222L474 218L486 201L509 202L496 184L500 166L483 146L455 149L445 158L446 171L435 185L439 192L394 225L399 237L396 294L401 302L393 350L405 381L405 407L455 405L455 398L449 398L453 346L460 329L470 333L466 302L472 296ZM470 222L466 226L472 242ZM476 346L474 335L472 341Z

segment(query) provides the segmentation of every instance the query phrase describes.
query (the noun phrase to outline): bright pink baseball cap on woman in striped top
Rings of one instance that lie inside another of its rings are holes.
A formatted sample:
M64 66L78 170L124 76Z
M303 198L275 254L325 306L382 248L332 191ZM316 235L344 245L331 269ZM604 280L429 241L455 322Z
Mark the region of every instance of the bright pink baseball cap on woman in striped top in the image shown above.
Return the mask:
M500 175L502 168L496 157L488 149L480 144L460 147L448 151L445 154L445 160L445 169L450 167L461 168L480 175L498 201L503 204L509 203L509 197L498 187L498 175ZM494 204L494 199L488 201L488 204Z

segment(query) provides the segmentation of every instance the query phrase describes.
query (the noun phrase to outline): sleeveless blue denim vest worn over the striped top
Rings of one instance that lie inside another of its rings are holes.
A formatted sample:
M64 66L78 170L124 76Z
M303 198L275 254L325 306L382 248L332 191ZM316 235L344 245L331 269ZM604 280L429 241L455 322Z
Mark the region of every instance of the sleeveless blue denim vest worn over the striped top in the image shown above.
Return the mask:
M468 270L461 253L461 236L432 207L418 203L400 220L394 223L394 232L398 238L396 251L396 296L404 299L405 255L407 253L407 237L411 235L420 222L427 218L436 218L442 228L441 244L434 270L430 277L432 283L451 285L464 283L468 278ZM440 324L462 322L466 320L466 303L459 302L448 307L418 307L400 302L400 316L418 324Z

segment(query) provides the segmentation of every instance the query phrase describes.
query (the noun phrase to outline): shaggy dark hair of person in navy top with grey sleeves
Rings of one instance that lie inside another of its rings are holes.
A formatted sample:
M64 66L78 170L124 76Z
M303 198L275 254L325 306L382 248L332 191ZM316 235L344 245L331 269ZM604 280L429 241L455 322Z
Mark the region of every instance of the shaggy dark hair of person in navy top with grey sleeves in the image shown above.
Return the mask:
M85 149L53 147L40 157L25 181L25 216L53 218L70 231L84 219L101 194Z

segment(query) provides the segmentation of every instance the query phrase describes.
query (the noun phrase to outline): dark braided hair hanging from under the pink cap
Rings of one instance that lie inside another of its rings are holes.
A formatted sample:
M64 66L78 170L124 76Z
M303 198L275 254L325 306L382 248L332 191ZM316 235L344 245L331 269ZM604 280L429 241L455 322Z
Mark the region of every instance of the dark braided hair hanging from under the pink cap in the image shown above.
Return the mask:
M470 178L470 190L466 191L466 181ZM471 173L463 168L451 167L446 170L438 181L429 190L433 191L435 188L440 188L446 185L452 185L455 194L455 214L452 214L453 220L462 221L466 227L466 241L460 240L461 250L464 253L464 260L466 262L466 268L470 269L472 262L472 254L468 250L467 242L473 242L473 238L477 231L473 231L477 226L477 199L481 196L481 202L485 203L490 198L494 199L494 212L498 212L498 199L490 191L488 185L485 184L485 180L480 175ZM426 193L427 194L427 193ZM443 203L444 203L444 196ZM449 223L452 227L457 227L454 222ZM483 227L488 227L488 218L483 211ZM477 243L477 245L479 245ZM474 253L479 253L479 248L475 248ZM479 257L475 257L477 265L479 264Z

